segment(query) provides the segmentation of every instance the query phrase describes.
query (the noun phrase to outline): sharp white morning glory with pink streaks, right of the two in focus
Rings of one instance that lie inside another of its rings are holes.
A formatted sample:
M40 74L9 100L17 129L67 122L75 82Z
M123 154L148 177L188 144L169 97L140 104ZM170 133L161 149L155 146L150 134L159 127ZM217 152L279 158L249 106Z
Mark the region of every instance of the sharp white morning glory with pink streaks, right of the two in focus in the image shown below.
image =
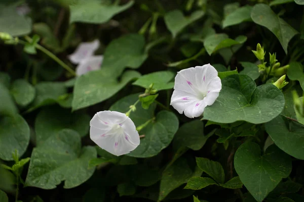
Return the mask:
M175 77L170 105L186 117L199 117L215 102L220 90L220 78L210 64L184 69Z

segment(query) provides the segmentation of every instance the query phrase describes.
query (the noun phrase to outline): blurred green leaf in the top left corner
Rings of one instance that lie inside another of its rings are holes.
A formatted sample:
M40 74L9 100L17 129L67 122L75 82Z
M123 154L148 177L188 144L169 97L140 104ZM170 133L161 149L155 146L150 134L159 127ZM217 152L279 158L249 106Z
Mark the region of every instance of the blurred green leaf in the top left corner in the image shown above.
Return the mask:
M16 7L0 4L0 30L12 36L31 32L31 19L17 14Z

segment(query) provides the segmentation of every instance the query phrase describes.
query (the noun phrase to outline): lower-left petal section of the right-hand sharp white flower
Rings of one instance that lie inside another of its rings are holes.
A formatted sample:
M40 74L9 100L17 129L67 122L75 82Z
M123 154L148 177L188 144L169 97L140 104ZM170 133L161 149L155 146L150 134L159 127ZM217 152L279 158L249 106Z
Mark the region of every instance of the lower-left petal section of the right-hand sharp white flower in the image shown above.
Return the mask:
M184 109L193 102L199 102L199 98L186 91L174 90L170 105L172 105L179 114L182 114Z

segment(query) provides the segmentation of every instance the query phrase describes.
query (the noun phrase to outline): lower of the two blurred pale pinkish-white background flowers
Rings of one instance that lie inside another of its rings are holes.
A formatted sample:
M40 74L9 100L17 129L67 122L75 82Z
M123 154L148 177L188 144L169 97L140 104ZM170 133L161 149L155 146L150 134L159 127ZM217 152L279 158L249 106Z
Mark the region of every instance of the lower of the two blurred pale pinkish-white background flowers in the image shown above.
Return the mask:
M103 56L91 56L79 63L76 68L78 76L83 75L89 71L99 70L103 61Z

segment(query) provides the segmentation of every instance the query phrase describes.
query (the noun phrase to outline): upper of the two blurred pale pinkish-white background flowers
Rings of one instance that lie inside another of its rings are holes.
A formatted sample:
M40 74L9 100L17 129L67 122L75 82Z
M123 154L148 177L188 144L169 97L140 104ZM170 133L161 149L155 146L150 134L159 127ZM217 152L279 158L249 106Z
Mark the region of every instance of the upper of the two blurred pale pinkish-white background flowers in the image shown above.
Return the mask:
M75 52L69 55L68 58L72 63L79 64L84 59L93 56L99 45L100 43L98 39L95 39L92 42L80 43Z

